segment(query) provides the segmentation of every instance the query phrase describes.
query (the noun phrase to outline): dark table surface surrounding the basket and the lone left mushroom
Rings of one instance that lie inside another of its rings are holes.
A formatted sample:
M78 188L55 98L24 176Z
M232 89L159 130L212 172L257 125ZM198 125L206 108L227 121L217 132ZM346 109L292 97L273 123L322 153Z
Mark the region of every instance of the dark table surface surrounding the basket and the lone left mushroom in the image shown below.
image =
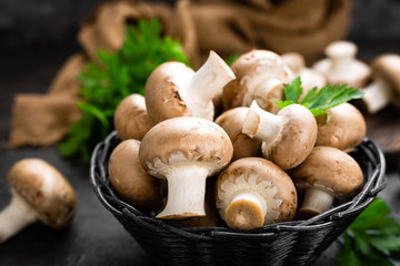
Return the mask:
M358 43L359 58L367 62L383 52L400 53L399 40ZM0 208L10 201L7 171L24 157L40 157L54 165L69 178L78 196L78 212L68 228L54 231L40 223L27 227L0 245L0 265L151 265L141 247L98 201L89 184L88 164L61 157L53 146L7 149L13 95L44 93L58 68L74 50L0 53ZM397 154L390 154L390 162L398 160ZM388 186L379 196L400 217L400 176L394 163L389 166ZM316 265L334 265L339 249L339 242L333 243Z

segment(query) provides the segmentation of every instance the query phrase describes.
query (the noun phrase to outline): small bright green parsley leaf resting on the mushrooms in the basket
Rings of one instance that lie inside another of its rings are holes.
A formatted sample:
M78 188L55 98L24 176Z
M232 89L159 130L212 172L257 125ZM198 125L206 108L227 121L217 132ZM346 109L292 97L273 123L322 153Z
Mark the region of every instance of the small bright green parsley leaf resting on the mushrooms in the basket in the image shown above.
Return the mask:
M280 109L294 103L302 104L308 108L314 116L318 116L341 103L362 98L363 92L360 89L349 88L346 84L330 84L321 89L317 86L311 89L302 99L300 99L301 94L301 80L300 76L298 76L292 83L288 83L284 86L286 101L280 101L277 104Z

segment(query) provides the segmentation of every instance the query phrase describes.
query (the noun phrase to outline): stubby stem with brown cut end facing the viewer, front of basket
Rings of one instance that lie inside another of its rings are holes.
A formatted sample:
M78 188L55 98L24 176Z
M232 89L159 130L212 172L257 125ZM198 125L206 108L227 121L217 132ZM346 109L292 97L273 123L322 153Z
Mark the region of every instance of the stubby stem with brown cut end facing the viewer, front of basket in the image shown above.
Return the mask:
M267 202L257 192L242 192L236 195L226 211L230 228L253 229L264 224Z

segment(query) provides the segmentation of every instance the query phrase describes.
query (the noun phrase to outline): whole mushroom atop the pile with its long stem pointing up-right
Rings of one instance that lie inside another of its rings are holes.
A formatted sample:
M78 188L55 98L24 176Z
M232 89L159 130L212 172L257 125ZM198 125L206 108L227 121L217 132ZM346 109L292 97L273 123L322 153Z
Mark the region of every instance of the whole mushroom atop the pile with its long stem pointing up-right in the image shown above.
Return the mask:
M212 99L232 79L232 70L213 51L196 72L183 63L166 62L156 68L146 82L148 114L154 124L177 116L212 121Z

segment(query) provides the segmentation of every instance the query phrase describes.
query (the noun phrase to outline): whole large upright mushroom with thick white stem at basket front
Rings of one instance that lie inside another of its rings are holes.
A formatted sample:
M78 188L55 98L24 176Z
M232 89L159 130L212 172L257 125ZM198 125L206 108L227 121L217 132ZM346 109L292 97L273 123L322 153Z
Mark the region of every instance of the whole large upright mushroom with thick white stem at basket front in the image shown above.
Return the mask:
M158 218L204 216L206 178L230 163L228 134L218 124L193 116L169 119L154 125L139 150L142 167L167 178L167 205Z

